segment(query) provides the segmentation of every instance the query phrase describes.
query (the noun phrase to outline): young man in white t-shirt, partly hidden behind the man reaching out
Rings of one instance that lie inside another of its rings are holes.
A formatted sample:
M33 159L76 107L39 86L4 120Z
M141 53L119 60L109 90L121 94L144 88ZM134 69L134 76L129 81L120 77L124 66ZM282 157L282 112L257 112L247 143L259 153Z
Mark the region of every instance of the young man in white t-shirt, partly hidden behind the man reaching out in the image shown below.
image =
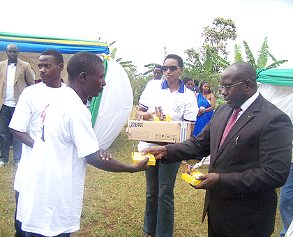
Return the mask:
M38 68L42 82L24 89L10 121L9 128L11 128L13 136L17 137L21 142L24 142L22 144L21 162L17 166L15 174L14 188L16 204L23 172L25 171L27 159L31 154L33 142L38 132L40 116L48 101L52 97L54 98L61 89L66 87L66 84L61 82L61 71L63 67L63 56L57 50L48 49L40 55ZM21 223L16 219L15 229L15 237L25 236L25 232L21 229Z

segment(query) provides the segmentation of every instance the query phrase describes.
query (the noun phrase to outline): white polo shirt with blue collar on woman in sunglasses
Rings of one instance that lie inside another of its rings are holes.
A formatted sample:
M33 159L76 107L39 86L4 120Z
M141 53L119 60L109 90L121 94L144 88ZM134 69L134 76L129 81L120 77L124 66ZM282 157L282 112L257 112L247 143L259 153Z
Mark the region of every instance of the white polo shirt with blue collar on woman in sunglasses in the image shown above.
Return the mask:
M197 98L195 93L187 89L181 80L179 83L180 88L172 93L165 79L160 83L148 83L140 96L140 106L147 109L147 112L155 112L155 107L161 106L163 114L170 114L172 121L195 123L198 113ZM148 146L151 146L151 143L140 142L138 151L142 151Z

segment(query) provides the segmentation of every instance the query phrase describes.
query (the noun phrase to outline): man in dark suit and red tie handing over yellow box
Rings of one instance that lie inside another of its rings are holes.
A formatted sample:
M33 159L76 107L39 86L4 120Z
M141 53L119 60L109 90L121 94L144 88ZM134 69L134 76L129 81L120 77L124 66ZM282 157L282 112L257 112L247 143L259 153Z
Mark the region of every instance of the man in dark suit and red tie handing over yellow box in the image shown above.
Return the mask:
M166 164L211 155L209 174L200 176L202 183L194 187L206 190L203 220L208 213L209 236L271 236L275 189L284 185L290 171L292 123L257 91L256 72L248 63L226 68L221 88L226 103L200 135L144 152ZM236 123L224 132L239 108Z

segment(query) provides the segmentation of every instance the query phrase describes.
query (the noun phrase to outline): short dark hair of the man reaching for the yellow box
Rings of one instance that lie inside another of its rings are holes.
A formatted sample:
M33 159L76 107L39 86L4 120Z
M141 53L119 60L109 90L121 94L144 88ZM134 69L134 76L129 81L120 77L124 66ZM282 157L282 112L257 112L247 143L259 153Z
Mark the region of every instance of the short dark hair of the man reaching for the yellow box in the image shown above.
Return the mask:
M81 72L89 72L100 64L103 64L103 61L96 54L87 51L77 52L67 64L68 80L80 75Z

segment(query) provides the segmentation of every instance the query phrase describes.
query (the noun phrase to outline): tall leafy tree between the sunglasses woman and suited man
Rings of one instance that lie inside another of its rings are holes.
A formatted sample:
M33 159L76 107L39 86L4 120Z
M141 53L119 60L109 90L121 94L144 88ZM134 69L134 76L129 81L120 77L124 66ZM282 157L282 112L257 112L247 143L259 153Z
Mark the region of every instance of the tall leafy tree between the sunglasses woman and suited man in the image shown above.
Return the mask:
M236 39L236 26L231 19L216 17L212 26L204 27L202 36L204 36L204 43L200 49L191 48L184 51L187 59L182 77L191 77L200 83L208 81L217 100L221 93L218 88L220 72L230 65L225 60L228 55L227 40ZM223 55L223 60L219 55Z

